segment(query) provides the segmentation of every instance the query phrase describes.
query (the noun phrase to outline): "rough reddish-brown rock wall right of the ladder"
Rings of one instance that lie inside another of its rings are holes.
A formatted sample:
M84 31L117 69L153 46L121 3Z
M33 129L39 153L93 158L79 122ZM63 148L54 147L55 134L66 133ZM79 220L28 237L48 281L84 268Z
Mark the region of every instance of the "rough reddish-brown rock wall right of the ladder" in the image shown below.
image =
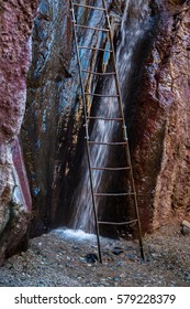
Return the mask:
M134 168L144 230L189 216L189 1L156 1L156 40L137 92ZM143 195L143 196L142 196Z

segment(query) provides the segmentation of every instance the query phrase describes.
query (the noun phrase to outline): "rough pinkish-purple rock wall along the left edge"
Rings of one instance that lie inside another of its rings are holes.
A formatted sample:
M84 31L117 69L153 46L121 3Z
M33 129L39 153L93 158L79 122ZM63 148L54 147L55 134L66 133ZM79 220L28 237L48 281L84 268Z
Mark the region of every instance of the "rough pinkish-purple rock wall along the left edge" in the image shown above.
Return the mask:
M15 138L24 116L29 39L36 4L32 0L0 2L0 264L25 233L31 211L22 151Z

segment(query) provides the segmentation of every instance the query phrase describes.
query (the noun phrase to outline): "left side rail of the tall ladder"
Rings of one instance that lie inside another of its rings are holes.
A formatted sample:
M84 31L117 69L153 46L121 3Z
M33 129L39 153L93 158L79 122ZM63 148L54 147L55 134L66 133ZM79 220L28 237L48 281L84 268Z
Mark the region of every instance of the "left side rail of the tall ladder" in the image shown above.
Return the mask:
M75 26L76 18L75 18L75 10L74 10L72 0L70 0L70 3L71 3L72 20L74 20L74 38L75 38L77 60L78 60L79 79L80 79L80 86L81 86L81 93L82 93L82 102L83 102L83 114L85 114L85 120L86 120L86 126L85 127L86 127L86 140L87 140L87 158L88 158L88 166L89 166L90 189L91 189L91 195L92 195L92 207L93 207L94 223L96 223L98 254L99 254L99 262L102 263L101 248L100 248L100 234L99 234L99 225L98 225L98 214L97 214L97 209L96 209L96 200L94 200L94 192L93 192L93 181L92 181L92 172L91 172L90 149L89 149L89 145L88 145L89 134L88 134L88 124L87 124L87 106L86 106L86 97L85 97L85 89L83 89L83 83L82 83L81 63L80 63L80 56L79 56L79 51L78 51L77 32L76 32L76 26Z

